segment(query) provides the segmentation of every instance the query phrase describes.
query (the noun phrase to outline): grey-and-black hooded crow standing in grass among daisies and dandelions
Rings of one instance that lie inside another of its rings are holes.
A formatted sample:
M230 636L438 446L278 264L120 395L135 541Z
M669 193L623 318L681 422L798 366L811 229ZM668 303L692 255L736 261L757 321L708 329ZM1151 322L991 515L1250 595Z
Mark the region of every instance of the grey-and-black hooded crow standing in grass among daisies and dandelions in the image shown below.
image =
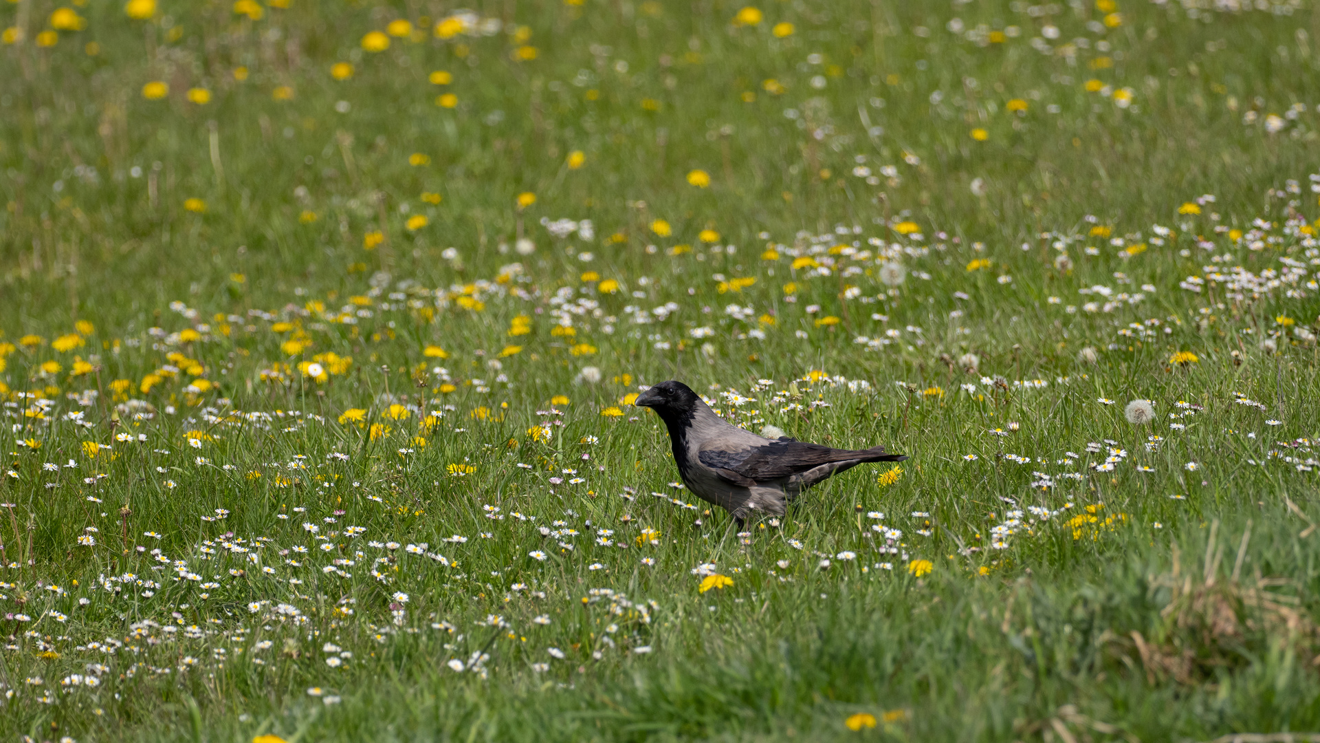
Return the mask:
M799 493L858 464L907 459L884 447L832 450L758 436L726 423L682 382L661 382L634 405L655 410L669 428L673 460L688 488L739 524L751 510L783 514Z

